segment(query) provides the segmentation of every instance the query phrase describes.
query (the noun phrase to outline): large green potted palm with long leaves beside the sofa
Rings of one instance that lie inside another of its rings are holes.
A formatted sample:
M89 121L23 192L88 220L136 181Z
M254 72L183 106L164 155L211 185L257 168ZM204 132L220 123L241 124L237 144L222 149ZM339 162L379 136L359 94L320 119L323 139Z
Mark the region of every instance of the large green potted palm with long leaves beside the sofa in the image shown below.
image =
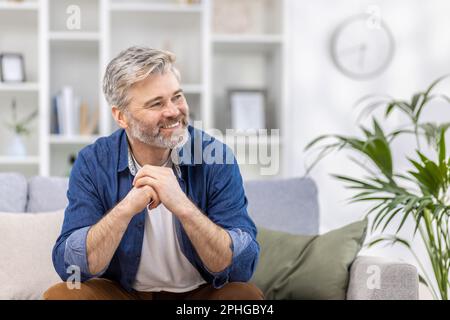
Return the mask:
M310 142L305 150L319 151L316 161L308 167L307 173L317 162L332 151L350 149L364 161L353 159L365 172L363 177L335 174L347 188L354 191L352 202L371 204L367 216L372 218L371 232L381 231L368 244L380 242L400 244L408 248L419 266L419 280L430 290L435 299L448 300L450 270L450 157L446 150L445 133L450 123L422 122L423 110L430 102L440 99L450 104L446 95L435 93L438 83L448 76L434 81L426 90L415 93L409 101L386 96L366 96L357 104L364 104L364 111L371 115L372 128L361 126L360 137L345 135L323 135ZM383 107L384 116L394 110L408 119L406 127L386 133L373 110ZM399 136L414 139L415 150L408 157L409 170L398 172L392 159L391 144ZM421 141L425 143L421 143ZM428 148L428 149L427 149ZM427 149L427 150L425 150ZM431 156L426 151L431 150ZM387 226L398 225L393 234L386 234ZM405 221L415 223L412 236L417 234L423 241L427 258L432 266L432 275L424 268L410 241L400 238Z

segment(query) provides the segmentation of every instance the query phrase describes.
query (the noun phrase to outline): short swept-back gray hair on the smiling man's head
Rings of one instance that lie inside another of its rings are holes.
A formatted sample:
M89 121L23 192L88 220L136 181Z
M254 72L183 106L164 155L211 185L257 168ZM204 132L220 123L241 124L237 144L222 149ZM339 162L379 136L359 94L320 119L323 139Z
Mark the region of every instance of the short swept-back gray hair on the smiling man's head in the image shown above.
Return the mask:
M180 81L175 68L175 55L169 51L133 46L120 52L106 67L103 93L110 106L126 111L131 99L128 90L150 74L172 71Z

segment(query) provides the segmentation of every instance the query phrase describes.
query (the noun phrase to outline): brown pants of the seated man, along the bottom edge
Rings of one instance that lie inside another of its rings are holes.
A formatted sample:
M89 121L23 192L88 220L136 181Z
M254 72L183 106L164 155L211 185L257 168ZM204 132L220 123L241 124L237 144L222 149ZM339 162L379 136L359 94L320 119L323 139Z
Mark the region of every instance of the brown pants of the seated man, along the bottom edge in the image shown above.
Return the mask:
M69 289L65 282L48 289L45 300L262 300L263 293L255 285L230 282L220 289L204 284L183 293L128 292L118 283L108 279L91 279L81 283L80 289Z

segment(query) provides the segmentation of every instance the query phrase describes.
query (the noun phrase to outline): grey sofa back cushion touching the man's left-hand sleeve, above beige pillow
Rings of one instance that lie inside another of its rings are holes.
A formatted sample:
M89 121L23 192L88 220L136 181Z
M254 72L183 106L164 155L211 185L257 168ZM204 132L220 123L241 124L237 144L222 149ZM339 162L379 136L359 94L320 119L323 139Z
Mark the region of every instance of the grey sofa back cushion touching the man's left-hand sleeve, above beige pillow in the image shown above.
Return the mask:
M69 180L60 177L36 176L28 182L27 212L45 212L67 206Z

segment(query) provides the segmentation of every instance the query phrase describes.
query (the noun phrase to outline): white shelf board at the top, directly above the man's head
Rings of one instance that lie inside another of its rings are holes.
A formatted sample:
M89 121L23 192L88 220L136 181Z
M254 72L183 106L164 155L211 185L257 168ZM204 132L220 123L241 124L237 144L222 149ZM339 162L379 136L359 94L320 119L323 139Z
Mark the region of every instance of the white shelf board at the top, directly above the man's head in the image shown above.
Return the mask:
M200 13L202 12L200 4L164 4L164 3L113 3L111 10L116 12L139 11L139 12L158 12L158 13Z

